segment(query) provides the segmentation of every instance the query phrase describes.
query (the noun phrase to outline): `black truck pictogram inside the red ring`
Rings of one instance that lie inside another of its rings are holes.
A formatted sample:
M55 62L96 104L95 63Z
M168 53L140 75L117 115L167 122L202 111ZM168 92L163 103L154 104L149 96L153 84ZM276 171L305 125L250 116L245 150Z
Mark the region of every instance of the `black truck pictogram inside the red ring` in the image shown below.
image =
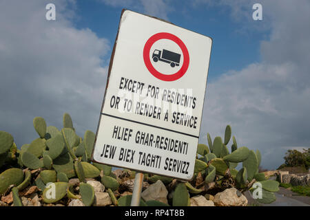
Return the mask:
M161 50L154 50L152 58L154 62L163 61L165 63L170 63L171 67L178 67L178 65L180 65L180 54L169 50L163 49L163 52Z

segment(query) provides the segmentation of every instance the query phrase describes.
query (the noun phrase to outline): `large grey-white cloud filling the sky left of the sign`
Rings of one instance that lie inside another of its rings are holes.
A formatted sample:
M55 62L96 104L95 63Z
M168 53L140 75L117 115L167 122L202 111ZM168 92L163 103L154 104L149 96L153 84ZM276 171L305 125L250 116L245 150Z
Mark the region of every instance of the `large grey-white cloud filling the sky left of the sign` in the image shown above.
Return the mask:
M0 130L19 146L37 137L35 116L61 128L67 111L80 135L99 120L110 45L74 28L74 1L54 3L56 21L46 21L45 1L0 2Z

